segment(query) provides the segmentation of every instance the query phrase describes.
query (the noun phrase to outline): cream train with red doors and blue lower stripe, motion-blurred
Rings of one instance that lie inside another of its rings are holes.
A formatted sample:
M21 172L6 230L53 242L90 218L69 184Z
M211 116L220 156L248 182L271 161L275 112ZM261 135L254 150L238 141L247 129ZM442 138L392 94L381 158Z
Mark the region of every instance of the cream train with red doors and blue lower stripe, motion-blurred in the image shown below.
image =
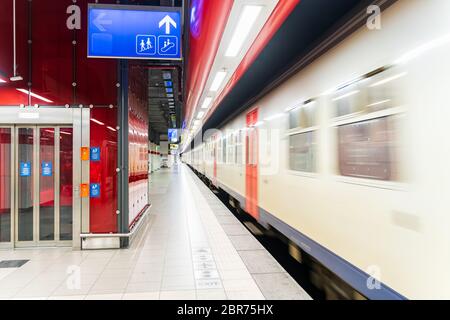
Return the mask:
M183 154L361 296L450 298L450 1L398 1Z

